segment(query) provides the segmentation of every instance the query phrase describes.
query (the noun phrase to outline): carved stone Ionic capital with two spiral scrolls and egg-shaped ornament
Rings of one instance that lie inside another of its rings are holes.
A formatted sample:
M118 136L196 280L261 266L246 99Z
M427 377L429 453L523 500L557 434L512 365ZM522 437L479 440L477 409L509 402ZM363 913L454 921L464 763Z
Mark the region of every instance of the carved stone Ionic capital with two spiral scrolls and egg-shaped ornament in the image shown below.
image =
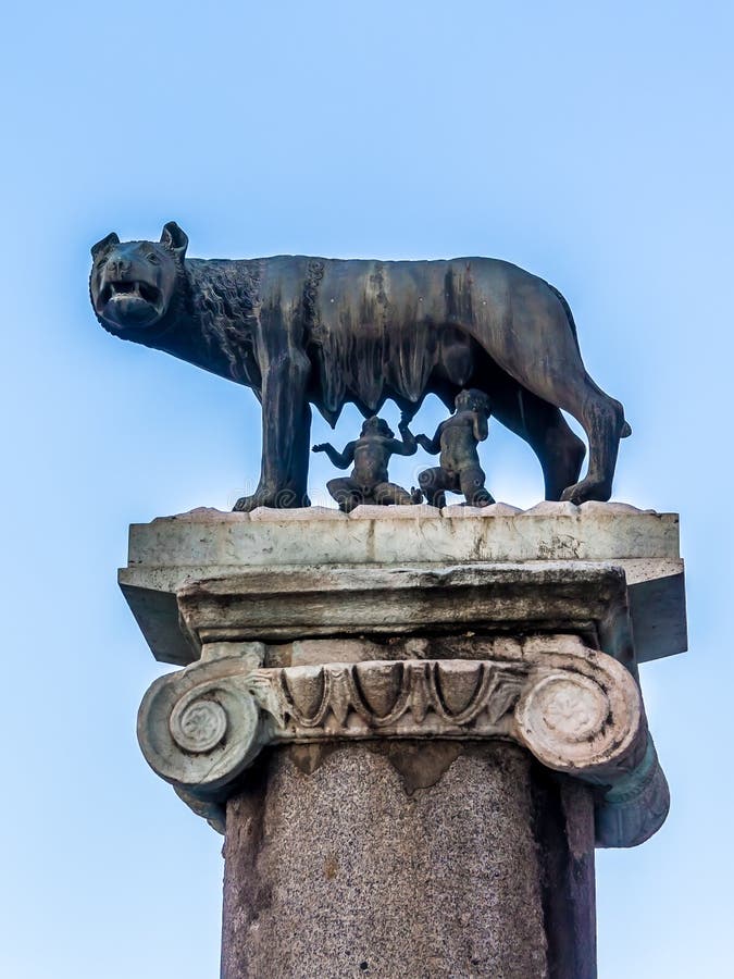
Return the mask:
M514 741L544 766L605 786L600 845L642 842L667 814L633 677L577 640L483 659L261 661L252 652L201 660L157 680L140 707L148 763L208 818L206 804L226 798L266 744L406 738Z

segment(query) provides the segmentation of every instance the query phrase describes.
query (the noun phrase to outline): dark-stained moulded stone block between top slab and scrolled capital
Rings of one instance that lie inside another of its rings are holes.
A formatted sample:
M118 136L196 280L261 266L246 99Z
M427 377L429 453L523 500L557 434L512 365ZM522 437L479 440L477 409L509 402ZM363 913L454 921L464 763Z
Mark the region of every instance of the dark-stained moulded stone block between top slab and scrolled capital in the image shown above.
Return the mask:
M537 561L425 568L298 568L191 582L176 596L190 648L334 635L577 632L632 667L624 572Z

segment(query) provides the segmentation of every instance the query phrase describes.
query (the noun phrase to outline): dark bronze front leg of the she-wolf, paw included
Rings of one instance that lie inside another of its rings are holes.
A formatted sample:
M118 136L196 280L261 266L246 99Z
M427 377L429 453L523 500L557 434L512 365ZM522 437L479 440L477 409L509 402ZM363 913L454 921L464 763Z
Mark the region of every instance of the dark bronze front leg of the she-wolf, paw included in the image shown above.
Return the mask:
M262 372L262 468L251 496L235 510L256 507L287 509L311 505L307 494L311 407L307 388L311 365L293 350L271 361Z

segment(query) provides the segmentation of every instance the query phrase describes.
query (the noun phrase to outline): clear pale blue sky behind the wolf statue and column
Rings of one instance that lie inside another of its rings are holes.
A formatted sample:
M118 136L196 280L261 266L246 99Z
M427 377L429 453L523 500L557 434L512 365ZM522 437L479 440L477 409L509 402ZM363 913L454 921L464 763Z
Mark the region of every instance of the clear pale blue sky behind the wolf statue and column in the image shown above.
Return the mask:
M673 807L598 854L600 976L729 975L733 28L718 2L4 14L3 976L217 974L221 839L138 752L164 668L115 569L128 523L257 478L259 411L112 339L87 298L94 241L172 219L192 256L488 255L564 293L634 429L614 496L679 510L688 562L691 652L642 671ZM484 460L497 498L540 498L498 424ZM332 474L320 457L314 490Z

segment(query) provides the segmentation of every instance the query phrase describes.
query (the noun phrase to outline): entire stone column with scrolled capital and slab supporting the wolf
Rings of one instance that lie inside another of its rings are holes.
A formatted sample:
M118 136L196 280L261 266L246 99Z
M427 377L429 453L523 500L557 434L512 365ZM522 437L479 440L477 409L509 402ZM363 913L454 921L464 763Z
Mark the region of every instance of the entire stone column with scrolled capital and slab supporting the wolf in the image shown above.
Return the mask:
M226 833L223 976L589 977L594 846L668 811L637 661L672 515L362 507L135 526L152 768Z

